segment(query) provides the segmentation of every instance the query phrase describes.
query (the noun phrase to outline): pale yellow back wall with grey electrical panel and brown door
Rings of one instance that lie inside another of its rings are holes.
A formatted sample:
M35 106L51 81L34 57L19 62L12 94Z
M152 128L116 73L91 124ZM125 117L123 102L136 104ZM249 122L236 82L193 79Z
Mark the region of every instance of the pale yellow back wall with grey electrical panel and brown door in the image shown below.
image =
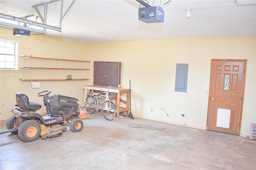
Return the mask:
M132 82L132 114L136 117L199 129L206 128L211 59L248 59L241 129L241 135L248 135L250 123L256 122L254 43L255 38L94 43L88 44L88 57L122 62L121 84L129 88L129 79ZM188 64L187 93L174 92L176 63Z

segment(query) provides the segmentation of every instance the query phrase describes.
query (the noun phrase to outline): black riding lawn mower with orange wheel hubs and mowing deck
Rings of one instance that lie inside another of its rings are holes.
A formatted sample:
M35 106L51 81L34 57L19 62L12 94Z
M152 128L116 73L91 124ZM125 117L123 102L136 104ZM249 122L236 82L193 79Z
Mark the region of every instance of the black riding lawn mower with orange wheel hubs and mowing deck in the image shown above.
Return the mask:
M43 96L46 115L36 113L42 106L38 103L29 102L28 96L16 93L16 107L12 108L12 115L6 122L7 129L14 134L18 134L25 142L62 135L67 128L63 123L70 123L70 130L79 132L83 128L83 122L78 115L78 99L59 94L50 94L50 90L45 90L37 94ZM1 133L2 134L2 133Z

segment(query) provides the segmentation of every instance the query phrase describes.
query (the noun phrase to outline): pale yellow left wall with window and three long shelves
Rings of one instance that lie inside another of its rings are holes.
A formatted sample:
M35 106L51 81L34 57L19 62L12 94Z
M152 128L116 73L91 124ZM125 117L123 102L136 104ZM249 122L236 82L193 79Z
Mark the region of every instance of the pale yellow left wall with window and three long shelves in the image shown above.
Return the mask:
M46 58L60 58L60 59L74 59L86 60L87 44L77 41L70 41L60 39L52 36L45 35L32 35L30 37L16 37L12 35L12 29L0 27L0 38L6 40L18 41L18 55L33 55L36 57ZM33 63L34 62L34 63ZM56 61L52 60L39 60L39 59L26 59L18 57L18 66L41 66L41 67L54 67ZM57 66L60 62L57 62ZM74 68L73 63L67 62L62 64L68 68ZM83 63L84 64L84 63ZM90 64L86 63L82 67L90 68ZM19 78L66 78L66 75L72 74L73 78L89 77L89 71L74 71L74 70L24 70L20 68L18 71L0 71L0 120L8 119L12 113L10 110L16 104L15 93L22 92L29 97L30 102L37 102L43 105L42 97L38 97L38 92L44 90L51 90L52 93L63 94L66 96L74 97L79 100L80 106L84 105L84 88L88 80L78 81L41 81L40 88L32 88L30 81L21 81ZM45 113L44 106L38 113Z

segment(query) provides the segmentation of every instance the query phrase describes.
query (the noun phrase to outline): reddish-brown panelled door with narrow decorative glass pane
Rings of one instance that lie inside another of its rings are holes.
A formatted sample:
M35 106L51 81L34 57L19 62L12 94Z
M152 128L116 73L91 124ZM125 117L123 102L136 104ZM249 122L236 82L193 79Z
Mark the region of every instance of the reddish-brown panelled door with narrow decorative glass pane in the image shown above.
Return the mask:
M212 59L206 129L240 135L246 60ZM218 108L231 109L229 129L216 127Z

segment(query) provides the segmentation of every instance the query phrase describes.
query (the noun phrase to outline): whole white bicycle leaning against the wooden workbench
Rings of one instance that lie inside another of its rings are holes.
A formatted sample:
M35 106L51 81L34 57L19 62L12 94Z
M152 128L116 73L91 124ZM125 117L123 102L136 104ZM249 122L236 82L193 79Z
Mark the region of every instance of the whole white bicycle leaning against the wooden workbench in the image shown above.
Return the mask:
M110 87L108 87L108 90ZM84 108L88 114L92 114L94 110L99 111L101 109L102 115L105 117L107 120L113 120L116 116L116 105L110 101L108 98L108 90L102 92L104 95L101 95L100 93L92 93L90 95L87 95L87 98L84 102ZM99 99L103 99L104 102L102 103L102 106L99 106Z

